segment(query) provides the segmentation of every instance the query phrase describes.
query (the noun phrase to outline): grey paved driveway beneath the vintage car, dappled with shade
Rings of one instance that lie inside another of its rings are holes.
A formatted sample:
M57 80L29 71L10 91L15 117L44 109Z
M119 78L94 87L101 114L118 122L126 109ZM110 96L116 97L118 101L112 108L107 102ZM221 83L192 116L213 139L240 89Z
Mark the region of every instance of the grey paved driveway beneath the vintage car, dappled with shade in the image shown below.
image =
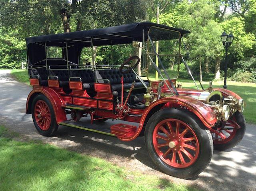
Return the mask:
M174 183L195 185L206 190L256 190L255 125L247 125L244 139L232 150L214 151L210 165L198 177L182 180L158 171L148 157L143 137L131 142L122 142L115 137L63 126L59 127L56 137L42 137L34 128L31 115L25 113L26 97L31 90L30 86L14 81L9 71L0 70L0 124L22 133L29 139L40 139L104 158L130 171L152 173ZM117 122L108 120L96 125L105 126Z

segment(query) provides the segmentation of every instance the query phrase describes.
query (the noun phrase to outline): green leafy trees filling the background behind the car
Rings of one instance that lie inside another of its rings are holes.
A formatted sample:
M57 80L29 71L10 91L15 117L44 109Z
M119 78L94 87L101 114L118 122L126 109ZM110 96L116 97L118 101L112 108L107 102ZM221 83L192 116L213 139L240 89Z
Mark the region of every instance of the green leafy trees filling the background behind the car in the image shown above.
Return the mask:
M20 68L26 62L25 37L156 22L157 6L160 24L191 31L183 39L189 58L184 49L182 54L199 79L221 77L224 47L220 34L224 30L235 36L229 48L230 78L241 72L239 63L243 71L252 72L246 66L252 66L256 52L256 0L1 0L0 67ZM115 47L111 55L109 48L100 47L97 52L102 54L96 59L100 63L112 57L121 62L121 53L132 50L122 48ZM86 54L82 57L84 62L90 60Z

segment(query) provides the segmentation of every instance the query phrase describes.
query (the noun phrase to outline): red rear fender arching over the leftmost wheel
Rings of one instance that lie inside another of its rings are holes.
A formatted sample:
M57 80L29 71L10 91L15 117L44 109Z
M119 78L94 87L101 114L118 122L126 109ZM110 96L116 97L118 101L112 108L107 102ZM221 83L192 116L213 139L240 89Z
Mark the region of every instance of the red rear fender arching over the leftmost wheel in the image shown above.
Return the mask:
M52 103L57 123L67 120L65 110L61 107L61 105L64 105L65 102L62 100L59 94L51 88L38 88L30 92L27 98L26 105L27 114L31 113L31 105L33 98L38 94L43 94Z

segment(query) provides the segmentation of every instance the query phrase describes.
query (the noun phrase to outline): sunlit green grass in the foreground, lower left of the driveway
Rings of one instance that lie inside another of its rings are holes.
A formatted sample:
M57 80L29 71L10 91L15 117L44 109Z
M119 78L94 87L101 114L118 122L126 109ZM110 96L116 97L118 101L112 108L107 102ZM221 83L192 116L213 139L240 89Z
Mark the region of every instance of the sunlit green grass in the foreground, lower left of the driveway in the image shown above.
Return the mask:
M15 141L1 126L0 167L2 191L196 190L40 141Z

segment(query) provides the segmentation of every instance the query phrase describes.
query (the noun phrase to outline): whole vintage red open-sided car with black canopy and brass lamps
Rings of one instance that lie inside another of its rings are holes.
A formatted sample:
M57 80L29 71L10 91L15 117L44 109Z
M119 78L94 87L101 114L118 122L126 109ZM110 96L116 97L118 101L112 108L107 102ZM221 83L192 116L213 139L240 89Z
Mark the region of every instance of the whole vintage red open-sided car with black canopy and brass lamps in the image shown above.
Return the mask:
M141 22L26 38L33 86L26 113L32 114L44 136L54 135L59 125L122 141L144 136L148 154L159 169L174 177L194 177L208 166L213 149L230 149L242 140L246 123L244 101L234 92L213 88L211 83L202 90L176 83L180 67L185 65L191 74L180 54L181 39L187 33ZM140 49L141 56L130 52L118 65L95 62L94 47L123 44ZM83 48L91 48L89 64L80 62ZM139 63L143 70L138 69ZM90 117L90 123L107 119L120 123L90 127L82 117Z

